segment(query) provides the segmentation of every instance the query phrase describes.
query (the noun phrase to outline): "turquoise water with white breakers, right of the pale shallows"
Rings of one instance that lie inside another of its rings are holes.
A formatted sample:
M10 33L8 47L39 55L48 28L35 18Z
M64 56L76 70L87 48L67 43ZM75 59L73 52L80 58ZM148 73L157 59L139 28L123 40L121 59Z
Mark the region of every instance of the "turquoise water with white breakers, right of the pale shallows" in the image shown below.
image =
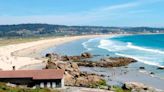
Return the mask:
M101 39L99 48L142 63L164 66L164 34L130 35Z

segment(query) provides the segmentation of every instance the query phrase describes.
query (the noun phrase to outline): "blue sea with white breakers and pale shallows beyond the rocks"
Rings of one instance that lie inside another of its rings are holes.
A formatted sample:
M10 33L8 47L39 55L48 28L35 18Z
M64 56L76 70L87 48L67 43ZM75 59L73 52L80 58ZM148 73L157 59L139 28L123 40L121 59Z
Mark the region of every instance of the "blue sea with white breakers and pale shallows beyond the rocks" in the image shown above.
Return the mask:
M81 39L44 51L62 55L79 55L91 52L95 55L131 57L139 62L164 66L164 34L126 35Z

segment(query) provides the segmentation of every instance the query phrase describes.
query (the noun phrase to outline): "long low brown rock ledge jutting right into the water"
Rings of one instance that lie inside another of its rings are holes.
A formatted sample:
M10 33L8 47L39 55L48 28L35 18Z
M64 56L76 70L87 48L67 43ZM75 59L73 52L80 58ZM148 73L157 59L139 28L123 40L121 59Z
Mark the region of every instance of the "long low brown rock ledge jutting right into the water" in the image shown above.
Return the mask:
M87 66L87 67L119 67L119 66L125 66L134 62L137 62L137 61L132 58L110 57L110 58L101 59L99 62L81 61L81 62L77 62L77 64L79 66Z

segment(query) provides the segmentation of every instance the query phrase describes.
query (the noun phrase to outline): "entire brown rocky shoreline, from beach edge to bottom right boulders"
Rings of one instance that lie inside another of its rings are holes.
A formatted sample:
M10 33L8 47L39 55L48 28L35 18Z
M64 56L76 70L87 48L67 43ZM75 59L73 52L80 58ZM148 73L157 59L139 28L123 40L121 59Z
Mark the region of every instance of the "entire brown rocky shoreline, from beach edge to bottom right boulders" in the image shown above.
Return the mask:
M94 56L90 53L82 53L80 56L59 56L49 53L46 55L47 64L45 69L64 69L65 85L72 87L101 88L111 92L162 92L155 88L138 82L125 82L123 86L111 86L106 83L103 75L81 72L79 66L84 67L120 67L137 62L135 59L126 57L108 57L98 62L86 61Z

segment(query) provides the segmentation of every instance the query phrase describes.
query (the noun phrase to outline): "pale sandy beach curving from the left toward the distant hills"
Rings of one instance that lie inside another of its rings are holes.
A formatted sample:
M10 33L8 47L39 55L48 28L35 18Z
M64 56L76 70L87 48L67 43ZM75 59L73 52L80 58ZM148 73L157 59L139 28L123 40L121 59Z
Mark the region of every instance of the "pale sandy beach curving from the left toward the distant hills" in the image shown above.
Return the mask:
M116 36L109 35L85 35L85 36L71 36L71 37L58 37L43 39L34 42L26 42L20 44L12 44L0 47L0 69L12 70L15 66L19 69L22 66L41 63L43 60L36 57L27 57L26 55L38 53L51 46L60 45L66 42L82 39L82 38L94 38L94 37L106 37Z

